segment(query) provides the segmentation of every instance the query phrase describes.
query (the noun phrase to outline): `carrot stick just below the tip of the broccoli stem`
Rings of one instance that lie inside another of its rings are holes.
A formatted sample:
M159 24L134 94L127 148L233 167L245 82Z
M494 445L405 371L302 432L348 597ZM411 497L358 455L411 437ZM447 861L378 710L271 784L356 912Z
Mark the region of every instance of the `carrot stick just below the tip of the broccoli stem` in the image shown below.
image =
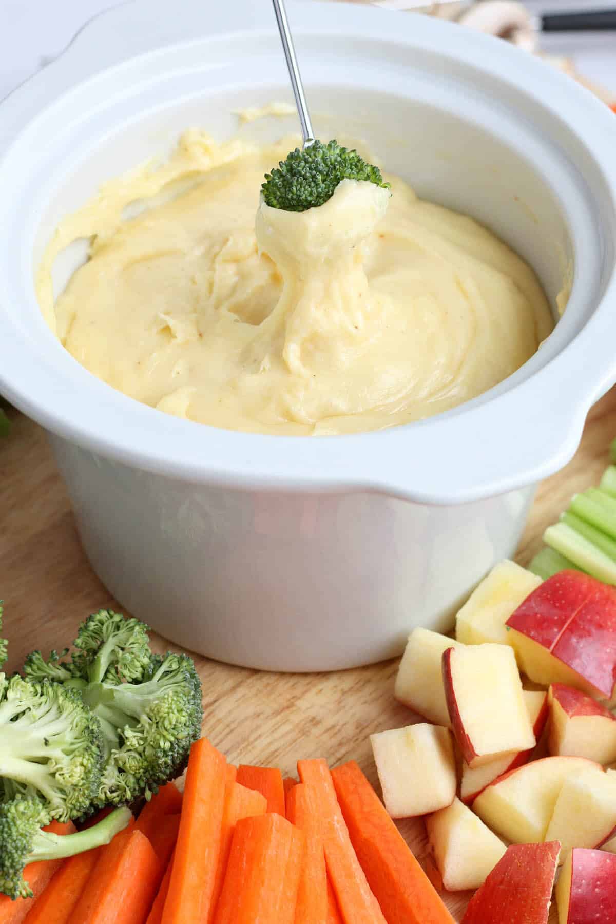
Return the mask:
M148 838L131 831L119 862L104 883L100 901L87 917L79 918L79 924L145 924L162 876L163 868Z

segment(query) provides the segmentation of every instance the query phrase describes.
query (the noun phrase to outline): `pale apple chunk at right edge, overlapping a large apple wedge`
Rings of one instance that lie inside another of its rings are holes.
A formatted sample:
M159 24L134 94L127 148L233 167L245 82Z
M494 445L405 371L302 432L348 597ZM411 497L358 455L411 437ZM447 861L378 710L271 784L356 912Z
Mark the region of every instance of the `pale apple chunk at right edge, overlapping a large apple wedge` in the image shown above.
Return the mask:
M588 767L562 784L546 840L560 841L562 859L572 847L600 847L616 833L616 772Z

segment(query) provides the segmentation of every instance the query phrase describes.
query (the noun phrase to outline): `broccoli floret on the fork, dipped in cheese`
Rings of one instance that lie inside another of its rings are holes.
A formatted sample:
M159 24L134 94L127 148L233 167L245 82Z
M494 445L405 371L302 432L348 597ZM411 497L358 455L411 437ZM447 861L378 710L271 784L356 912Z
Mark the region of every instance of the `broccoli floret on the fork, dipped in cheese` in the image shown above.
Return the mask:
M379 167L367 164L356 151L341 148L337 141L313 141L303 151L296 148L266 174L261 192L273 209L306 212L331 199L344 179L368 180L390 188L383 182Z

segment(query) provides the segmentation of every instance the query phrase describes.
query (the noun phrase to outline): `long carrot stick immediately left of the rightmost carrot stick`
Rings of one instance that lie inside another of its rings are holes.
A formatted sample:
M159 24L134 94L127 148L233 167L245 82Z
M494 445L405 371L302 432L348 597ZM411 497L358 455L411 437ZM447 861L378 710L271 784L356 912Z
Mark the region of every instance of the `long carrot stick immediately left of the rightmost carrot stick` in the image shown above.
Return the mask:
M325 760L300 760L299 779L314 787L327 872L344 924L386 924L359 865Z

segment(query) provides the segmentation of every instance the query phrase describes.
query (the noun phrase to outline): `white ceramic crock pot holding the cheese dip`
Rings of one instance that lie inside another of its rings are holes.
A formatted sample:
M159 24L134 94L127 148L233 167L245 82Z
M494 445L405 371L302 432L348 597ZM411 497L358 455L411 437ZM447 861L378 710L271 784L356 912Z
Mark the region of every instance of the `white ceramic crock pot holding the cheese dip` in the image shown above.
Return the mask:
M616 381L616 118L455 25L346 4L289 15L323 137L363 137L422 195L485 222L552 302L573 268L549 340L464 407L319 439L175 419L81 368L32 283L59 219L187 126L229 135L232 110L290 100L269 4L138 0L0 105L0 387L50 433L91 563L124 606L213 658L314 671L449 628ZM66 251L58 286L82 259Z

